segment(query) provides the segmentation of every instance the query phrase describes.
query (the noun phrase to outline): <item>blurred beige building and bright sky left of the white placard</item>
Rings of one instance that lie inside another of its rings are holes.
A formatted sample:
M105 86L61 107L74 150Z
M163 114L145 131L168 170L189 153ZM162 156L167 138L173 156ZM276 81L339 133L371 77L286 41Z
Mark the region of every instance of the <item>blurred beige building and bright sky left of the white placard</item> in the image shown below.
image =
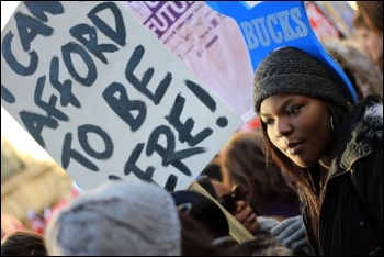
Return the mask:
M1 1L1 31L19 3ZM72 179L1 107L2 233L20 226L43 233L46 220L77 192Z

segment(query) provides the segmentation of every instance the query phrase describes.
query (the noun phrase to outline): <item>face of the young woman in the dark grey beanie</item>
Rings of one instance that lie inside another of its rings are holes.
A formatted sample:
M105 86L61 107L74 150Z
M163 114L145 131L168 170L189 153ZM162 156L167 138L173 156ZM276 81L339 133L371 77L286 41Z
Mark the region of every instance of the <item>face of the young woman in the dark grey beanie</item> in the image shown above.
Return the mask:
M284 155L307 168L328 155L334 132L324 102L300 94L274 94L260 105L268 137Z

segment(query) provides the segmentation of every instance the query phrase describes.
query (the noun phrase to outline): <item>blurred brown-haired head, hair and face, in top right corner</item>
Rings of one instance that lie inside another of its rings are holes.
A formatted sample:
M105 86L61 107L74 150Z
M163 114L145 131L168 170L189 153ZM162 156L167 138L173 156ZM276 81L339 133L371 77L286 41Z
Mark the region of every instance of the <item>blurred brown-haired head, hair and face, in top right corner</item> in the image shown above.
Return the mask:
M357 5L353 25L362 29L364 51L383 71L383 1L357 1Z

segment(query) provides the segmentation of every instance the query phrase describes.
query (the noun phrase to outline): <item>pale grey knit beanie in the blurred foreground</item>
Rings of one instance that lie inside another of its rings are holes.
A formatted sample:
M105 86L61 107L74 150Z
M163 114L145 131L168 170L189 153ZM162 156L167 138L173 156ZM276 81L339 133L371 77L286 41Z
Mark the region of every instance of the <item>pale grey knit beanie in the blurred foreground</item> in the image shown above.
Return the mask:
M61 209L45 233L49 255L181 255L172 197L145 181L109 181Z

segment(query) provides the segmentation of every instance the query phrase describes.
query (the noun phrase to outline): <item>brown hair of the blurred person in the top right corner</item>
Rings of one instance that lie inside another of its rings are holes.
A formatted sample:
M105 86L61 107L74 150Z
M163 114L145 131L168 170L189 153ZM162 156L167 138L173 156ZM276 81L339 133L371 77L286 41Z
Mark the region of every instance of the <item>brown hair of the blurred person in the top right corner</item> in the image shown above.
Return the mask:
M357 1L357 4L366 27L383 33L383 1Z

